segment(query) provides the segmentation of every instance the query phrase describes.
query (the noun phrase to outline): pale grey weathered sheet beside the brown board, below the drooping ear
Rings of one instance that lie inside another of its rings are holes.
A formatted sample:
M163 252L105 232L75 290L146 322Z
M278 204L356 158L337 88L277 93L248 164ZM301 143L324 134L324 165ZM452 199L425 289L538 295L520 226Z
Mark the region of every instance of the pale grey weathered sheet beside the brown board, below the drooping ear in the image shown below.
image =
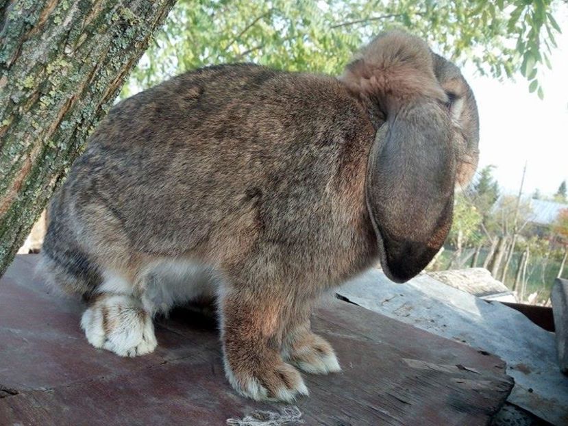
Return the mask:
M521 312L426 274L395 284L377 269L349 281L338 295L402 323L494 353L515 379L508 402L552 425L568 425L568 377L558 368L554 333Z

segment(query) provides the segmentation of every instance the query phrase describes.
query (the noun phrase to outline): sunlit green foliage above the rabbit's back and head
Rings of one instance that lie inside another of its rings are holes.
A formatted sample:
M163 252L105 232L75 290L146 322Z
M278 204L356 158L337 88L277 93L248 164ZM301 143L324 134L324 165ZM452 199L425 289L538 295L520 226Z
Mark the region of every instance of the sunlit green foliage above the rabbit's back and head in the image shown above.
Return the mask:
M558 1L558 0L556 0ZM536 77L560 27L552 0L180 0L134 71L132 88L223 62L341 73L373 34L406 27L458 64L481 73L517 71L542 97Z

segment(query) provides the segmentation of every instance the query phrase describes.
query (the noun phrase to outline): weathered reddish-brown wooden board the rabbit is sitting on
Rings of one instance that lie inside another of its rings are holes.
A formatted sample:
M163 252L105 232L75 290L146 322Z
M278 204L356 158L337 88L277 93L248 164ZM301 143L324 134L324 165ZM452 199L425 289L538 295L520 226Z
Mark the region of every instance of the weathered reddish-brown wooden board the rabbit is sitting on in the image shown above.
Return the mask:
M232 391L199 314L159 321L158 349L141 358L90 347L81 305L33 277L36 262L19 255L0 282L0 425L224 425L282 409ZM485 425L513 386L499 358L343 301L313 323L343 372L305 376L306 425Z

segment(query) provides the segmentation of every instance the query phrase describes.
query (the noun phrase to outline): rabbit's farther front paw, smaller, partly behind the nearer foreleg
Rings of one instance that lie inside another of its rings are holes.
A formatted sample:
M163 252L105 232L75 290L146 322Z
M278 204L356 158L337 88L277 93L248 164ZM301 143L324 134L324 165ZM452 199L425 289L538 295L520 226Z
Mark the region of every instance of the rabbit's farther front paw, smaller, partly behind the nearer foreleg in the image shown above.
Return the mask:
M341 371L331 344L312 331L290 336L282 346L282 358L306 373L328 374Z

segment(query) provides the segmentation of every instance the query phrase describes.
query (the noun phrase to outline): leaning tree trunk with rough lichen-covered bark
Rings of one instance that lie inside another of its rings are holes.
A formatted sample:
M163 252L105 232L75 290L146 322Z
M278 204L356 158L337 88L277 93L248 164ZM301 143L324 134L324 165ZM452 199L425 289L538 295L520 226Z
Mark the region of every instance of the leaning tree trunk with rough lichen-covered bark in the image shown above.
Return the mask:
M0 276L175 0L0 0Z

